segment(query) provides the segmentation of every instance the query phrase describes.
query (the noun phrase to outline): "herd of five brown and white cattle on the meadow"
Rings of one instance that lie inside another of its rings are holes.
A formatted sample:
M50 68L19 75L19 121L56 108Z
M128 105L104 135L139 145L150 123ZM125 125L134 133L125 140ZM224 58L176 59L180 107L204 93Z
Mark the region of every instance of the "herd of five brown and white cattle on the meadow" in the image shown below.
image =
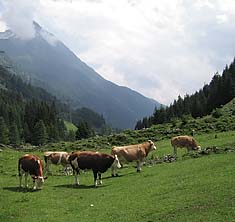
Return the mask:
M177 155L177 147L185 147L188 152L201 149L195 139L189 136L173 137L171 145L175 156ZM50 171L50 164L62 165L66 174L69 174L69 169L72 167L75 184L79 185L78 174L80 170L90 169L93 171L94 185L97 187L97 185L102 184L102 173L111 168L112 176L118 176L117 169L121 168L124 162L136 161L137 172L140 172L144 159L152 150L156 150L156 146L151 140L148 140L141 144L113 147L111 154L94 151L75 151L71 153L48 151L44 152L45 175L48 175ZM43 171L43 162L38 156L33 154L22 156L18 161L20 187L23 187L23 176L25 176L25 187L28 187L28 175L30 175L33 179L33 189L41 189L44 180L47 179L47 176L43 176Z

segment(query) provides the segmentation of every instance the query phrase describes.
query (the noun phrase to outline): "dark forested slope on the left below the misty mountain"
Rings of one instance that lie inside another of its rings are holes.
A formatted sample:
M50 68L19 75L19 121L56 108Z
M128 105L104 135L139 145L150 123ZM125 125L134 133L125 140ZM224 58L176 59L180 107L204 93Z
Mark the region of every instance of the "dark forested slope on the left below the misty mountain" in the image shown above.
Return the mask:
M67 130L64 120L77 130ZM72 110L0 65L0 143L43 145L110 132L102 115L88 108Z

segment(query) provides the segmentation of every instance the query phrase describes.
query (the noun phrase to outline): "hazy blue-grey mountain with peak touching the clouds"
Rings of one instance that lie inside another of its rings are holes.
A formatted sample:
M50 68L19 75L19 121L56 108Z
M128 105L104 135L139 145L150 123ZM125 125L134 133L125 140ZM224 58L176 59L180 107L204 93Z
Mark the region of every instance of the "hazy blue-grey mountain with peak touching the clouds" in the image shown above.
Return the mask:
M133 128L159 103L127 87L105 80L54 35L34 22L35 37L24 40L10 30L0 33L0 50L31 78L73 108L87 107L113 127Z

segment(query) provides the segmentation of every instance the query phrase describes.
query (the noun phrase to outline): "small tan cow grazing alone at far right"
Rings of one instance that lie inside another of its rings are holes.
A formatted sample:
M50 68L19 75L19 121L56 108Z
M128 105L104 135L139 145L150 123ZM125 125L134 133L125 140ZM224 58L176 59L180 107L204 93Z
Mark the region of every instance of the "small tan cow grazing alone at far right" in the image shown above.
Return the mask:
M177 156L177 147L187 148L188 152L190 150L201 150L201 147L197 144L196 140L191 136L176 136L171 138L171 145L174 149L174 156Z

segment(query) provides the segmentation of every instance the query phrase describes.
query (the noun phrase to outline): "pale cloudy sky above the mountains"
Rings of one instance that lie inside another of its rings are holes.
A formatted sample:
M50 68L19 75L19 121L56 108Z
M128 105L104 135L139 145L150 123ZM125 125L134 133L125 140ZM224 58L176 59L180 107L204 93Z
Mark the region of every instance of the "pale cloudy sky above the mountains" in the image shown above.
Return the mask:
M32 21L105 79L169 105L235 57L234 0L0 0L0 31Z

